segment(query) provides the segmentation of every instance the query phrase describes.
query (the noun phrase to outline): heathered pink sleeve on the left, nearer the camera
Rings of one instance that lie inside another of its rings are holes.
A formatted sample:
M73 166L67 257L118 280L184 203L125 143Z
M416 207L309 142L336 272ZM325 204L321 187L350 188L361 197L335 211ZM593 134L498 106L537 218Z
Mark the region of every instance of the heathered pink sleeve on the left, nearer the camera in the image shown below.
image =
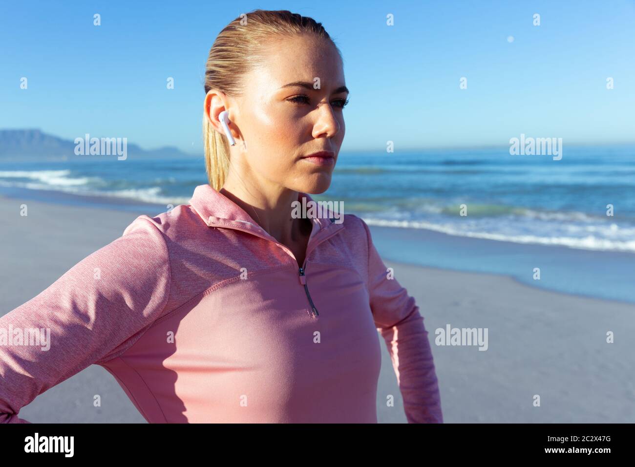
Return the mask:
M46 339L50 330L49 349L43 342L3 342L0 334L0 423L31 423L18 417L24 405L92 363L126 351L161 315L169 294L164 234L141 215L121 237L0 317L0 333L8 339L42 329Z

